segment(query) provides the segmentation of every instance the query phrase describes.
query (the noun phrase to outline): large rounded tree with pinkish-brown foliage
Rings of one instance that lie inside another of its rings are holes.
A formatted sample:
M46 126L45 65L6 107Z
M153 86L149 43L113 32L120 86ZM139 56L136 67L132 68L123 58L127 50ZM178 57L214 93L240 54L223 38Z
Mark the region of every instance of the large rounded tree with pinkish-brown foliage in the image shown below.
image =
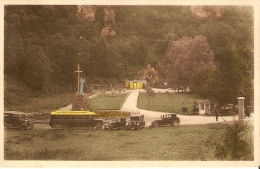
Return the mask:
M194 79L214 68L214 55L204 36L183 37L171 42L158 67L165 81L192 87Z

